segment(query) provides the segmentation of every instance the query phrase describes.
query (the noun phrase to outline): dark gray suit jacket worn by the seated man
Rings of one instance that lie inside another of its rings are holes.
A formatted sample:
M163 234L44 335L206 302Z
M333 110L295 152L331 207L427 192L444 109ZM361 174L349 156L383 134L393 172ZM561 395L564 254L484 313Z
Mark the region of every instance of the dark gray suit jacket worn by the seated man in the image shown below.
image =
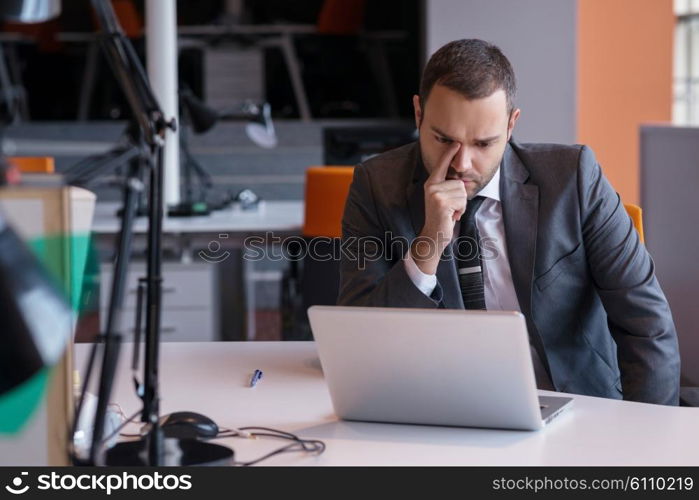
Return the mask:
M515 291L555 388L678 404L680 359L670 308L593 152L511 141L501 169ZM402 262L424 224L426 179L417 143L356 167L342 220L338 304L463 309L449 247L430 297Z

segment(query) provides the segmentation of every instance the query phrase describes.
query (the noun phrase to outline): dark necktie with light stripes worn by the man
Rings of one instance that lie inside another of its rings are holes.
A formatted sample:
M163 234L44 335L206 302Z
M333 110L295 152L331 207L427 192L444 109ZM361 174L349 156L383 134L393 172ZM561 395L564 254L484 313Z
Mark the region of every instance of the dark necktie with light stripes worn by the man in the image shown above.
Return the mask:
M476 196L468 201L466 212L461 216L459 238L455 247L459 285L466 309L485 309L480 238L476 227L476 212L483 201L483 196Z

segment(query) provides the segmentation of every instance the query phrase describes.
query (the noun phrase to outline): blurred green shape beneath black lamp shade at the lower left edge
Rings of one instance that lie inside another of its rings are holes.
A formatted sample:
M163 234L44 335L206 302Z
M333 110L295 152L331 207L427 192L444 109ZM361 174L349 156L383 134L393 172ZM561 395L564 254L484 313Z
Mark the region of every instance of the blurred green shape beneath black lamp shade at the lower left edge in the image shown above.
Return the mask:
M16 434L29 422L44 397L50 373L51 367L42 368L29 380L0 396L0 434Z

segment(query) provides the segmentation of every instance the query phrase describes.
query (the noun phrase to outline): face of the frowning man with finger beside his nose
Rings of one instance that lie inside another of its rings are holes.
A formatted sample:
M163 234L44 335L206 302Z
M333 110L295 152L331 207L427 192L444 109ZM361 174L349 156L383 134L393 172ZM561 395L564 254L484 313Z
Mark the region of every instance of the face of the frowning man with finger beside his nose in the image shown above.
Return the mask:
M421 109L418 96L413 97L413 105L428 173L449 146L458 142L447 179L464 181L468 199L472 199L495 175L520 110L508 115L504 90L469 100L443 85L432 88L425 109Z

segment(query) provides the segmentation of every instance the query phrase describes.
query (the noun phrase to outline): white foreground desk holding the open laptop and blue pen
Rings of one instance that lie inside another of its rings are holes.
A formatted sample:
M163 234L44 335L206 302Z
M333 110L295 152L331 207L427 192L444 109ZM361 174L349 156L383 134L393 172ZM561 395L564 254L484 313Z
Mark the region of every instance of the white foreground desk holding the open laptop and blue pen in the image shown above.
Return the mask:
M84 368L88 345L77 345ZM112 400L130 415L131 346L124 346ZM129 358L129 359L127 359ZM263 379L249 388L252 371ZM338 421L312 342L163 344L161 413L197 411L219 427L268 426L325 441L315 457L286 454L265 465L699 465L699 409L575 396L575 406L539 432ZM133 428L131 428L133 430ZM237 460L280 446L221 439Z

